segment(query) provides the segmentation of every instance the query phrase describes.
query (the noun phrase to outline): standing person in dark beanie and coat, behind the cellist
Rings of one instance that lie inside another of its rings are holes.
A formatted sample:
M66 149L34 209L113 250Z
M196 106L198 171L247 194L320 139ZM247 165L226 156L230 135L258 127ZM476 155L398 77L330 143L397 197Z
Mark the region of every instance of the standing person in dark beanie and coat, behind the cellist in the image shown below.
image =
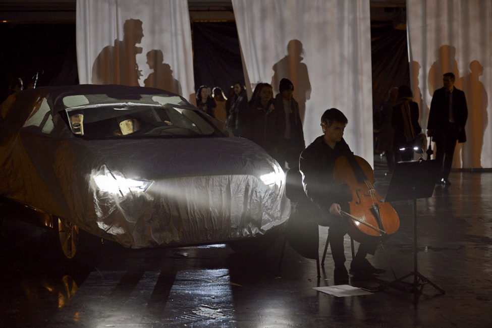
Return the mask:
M280 80L279 90L280 93L275 97L275 109L280 117L279 134L281 138L283 137L283 142L278 157L279 164L285 171L287 166L289 168L299 166L299 156L306 146L299 104L292 97L294 85L289 79L284 78Z

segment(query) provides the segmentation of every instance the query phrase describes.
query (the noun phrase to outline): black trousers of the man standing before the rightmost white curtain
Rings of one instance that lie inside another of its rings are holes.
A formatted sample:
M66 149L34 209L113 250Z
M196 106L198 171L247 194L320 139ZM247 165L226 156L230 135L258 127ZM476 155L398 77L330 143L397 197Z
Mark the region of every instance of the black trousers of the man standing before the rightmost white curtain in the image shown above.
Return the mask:
M437 130L432 136L432 140L435 142L437 148L435 159L441 169L439 180L448 180L449 178L459 132L459 126L451 123L449 129Z

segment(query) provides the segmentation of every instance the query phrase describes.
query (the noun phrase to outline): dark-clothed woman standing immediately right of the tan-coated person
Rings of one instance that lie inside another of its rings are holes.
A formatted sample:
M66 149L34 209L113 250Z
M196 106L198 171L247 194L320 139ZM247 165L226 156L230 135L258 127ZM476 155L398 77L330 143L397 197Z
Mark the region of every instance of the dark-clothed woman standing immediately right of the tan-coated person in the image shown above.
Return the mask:
M240 82L234 83L233 90L233 95L228 99L229 104L226 104L226 126L230 133L241 137L244 118L248 110L248 97L244 85Z

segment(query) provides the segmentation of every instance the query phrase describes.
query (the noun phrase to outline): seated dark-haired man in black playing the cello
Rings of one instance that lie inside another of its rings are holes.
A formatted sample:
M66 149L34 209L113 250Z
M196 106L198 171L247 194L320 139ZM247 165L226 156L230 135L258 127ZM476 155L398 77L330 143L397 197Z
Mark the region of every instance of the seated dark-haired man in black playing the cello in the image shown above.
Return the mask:
M349 229L348 219L341 211L350 213L349 195L338 186L333 177L335 161L338 157L352 155L350 147L343 138L347 117L337 108L326 110L321 116L323 135L316 138L299 158L299 171L307 197L321 209L324 222L329 226L329 240L335 262L334 280L336 283L349 281L345 267L344 236ZM360 243L355 258L350 263L352 274L378 275L386 272L375 268L366 259L367 254L374 255L377 243L366 241Z

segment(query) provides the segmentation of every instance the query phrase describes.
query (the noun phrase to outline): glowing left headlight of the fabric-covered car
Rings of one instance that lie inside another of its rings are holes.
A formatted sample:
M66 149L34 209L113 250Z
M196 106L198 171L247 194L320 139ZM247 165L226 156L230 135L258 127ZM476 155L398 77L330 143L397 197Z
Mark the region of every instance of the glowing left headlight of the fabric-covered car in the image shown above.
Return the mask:
M102 191L113 194L121 193L123 196L129 192L144 192L152 184L151 181L127 179L122 174L105 171L91 177L97 187Z

